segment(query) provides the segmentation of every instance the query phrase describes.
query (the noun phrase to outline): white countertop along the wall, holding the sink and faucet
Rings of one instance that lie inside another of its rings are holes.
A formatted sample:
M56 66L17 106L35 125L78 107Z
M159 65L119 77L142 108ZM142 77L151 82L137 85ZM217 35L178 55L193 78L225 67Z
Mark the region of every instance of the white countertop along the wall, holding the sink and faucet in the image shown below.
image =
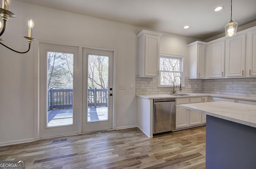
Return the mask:
M183 93L178 93L178 94L183 94ZM169 95L169 94L136 94L136 96L141 97L141 98L146 98L146 99L212 96L212 97L222 97L222 98L256 101L256 97L252 97L252 96L236 96L236 95L229 95L229 94L214 94L214 93L186 93L186 94L189 94L189 95L173 96L173 95Z

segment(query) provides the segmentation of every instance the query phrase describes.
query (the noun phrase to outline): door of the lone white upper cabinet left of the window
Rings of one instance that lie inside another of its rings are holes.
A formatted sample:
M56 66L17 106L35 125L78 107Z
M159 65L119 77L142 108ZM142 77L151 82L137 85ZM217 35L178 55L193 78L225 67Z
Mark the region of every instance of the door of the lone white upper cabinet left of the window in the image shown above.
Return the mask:
M145 76L157 77L159 67L159 36L145 36Z

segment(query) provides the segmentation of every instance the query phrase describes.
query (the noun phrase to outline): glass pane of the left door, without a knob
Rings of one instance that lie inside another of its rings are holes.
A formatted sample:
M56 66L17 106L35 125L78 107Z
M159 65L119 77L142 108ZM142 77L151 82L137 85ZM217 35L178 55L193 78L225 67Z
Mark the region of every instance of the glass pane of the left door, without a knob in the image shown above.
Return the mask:
M47 52L47 127L73 125L71 53Z

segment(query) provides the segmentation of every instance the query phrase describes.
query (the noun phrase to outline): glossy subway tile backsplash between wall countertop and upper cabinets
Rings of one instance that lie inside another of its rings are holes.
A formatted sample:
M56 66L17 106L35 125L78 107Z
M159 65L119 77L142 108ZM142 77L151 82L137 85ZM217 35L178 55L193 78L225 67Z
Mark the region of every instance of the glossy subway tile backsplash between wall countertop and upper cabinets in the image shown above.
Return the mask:
M136 94L170 94L172 89L172 87L158 87L158 78L139 78L136 75ZM180 92L178 88L175 90ZM182 87L182 92L256 96L256 78L202 80L185 77L185 87Z

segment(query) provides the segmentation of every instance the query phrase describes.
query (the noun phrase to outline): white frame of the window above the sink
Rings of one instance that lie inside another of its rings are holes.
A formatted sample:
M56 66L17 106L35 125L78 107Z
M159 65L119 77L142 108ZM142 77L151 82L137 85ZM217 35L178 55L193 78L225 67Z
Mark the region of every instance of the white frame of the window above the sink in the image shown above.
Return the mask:
M160 70L160 58L168 58L168 59L170 59L170 58L174 58L174 59L180 59L180 71L161 71ZM161 54L160 53L160 56L159 56L159 73L158 73L158 87L172 87L173 86L173 84L171 84L171 85L161 85L161 79L160 79L160 74L161 74L161 72L172 72L172 73L175 73L175 72L178 72L178 73L180 73L181 74L181 80L180 80L180 82L181 82L181 85L184 87L185 86L185 84L184 84L184 82L185 82L185 80L184 80L184 72L183 72L183 65L184 65L184 56L179 56L179 55L171 55L171 54ZM176 85L176 84L175 84ZM179 84L177 84L177 85L179 85Z

